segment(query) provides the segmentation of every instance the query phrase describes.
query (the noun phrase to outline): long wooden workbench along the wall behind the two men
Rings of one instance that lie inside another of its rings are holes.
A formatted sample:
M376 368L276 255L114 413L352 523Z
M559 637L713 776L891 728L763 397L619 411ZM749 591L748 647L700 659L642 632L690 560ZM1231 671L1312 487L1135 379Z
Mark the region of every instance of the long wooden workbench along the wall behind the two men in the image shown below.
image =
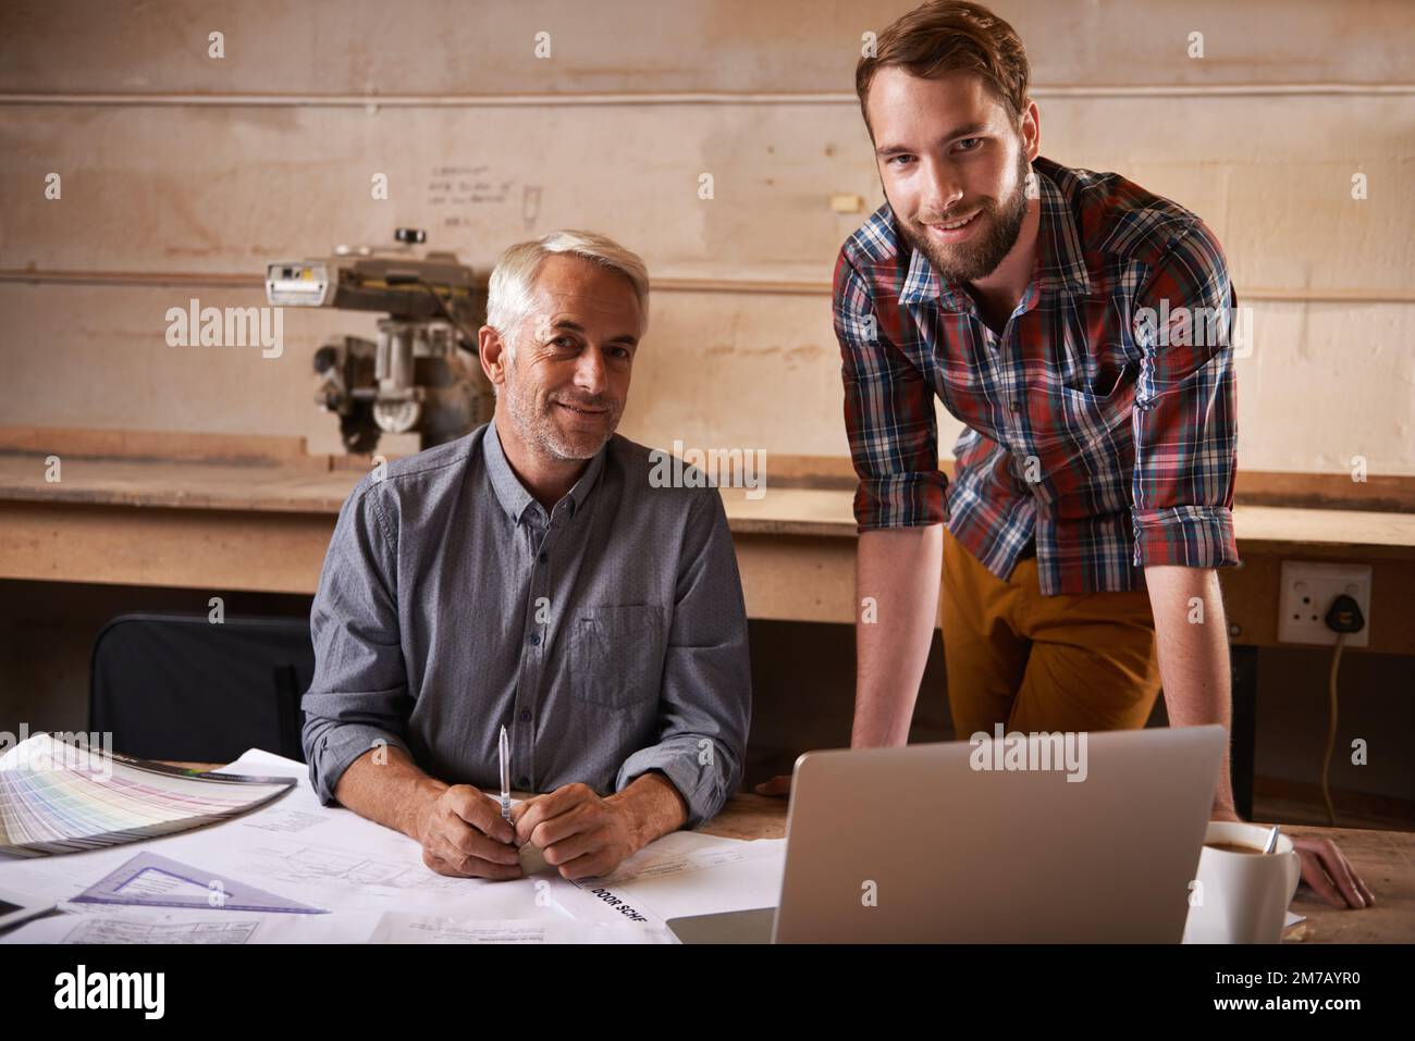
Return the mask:
M112 434L55 450L55 482L44 444L42 431L0 443L0 578L311 594L364 472L293 450L212 461L202 436ZM853 621L852 499L723 489L753 618ZM1234 528L1244 564L1221 573L1234 644L1276 645L1283 557L1360 560L1380 571L1368 649L1415 653L1415 515L1240 505Z

